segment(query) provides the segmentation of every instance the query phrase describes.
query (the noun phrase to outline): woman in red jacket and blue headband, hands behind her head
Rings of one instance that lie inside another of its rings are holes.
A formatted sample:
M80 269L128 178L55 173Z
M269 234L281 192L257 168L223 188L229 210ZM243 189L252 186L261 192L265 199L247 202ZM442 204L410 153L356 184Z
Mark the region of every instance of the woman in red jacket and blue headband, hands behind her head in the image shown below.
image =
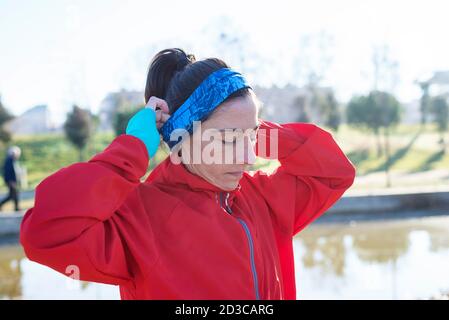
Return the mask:
M292 238L355 176L331 134L258 120L242 75L178 48L153 58L145 101L126 134L38 185L21 226L27 256L119 285L122 299L295 299ZM159 132L171 156L141 182ZM271 175L247 172L262 142L281 164ZM205 159L226 150L231 161Z

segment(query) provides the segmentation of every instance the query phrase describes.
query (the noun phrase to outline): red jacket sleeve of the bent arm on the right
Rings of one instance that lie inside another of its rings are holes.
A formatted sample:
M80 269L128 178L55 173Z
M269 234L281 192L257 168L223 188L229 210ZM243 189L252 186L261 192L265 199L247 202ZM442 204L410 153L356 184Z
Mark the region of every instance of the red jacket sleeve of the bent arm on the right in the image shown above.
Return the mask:
M317 125L260 122L257 154L273 158L277 150L280 167L271 175L257 171L252 180L280 231L294 236L353 184L355 167L332 135ZM263 145L268 152L261 154Z

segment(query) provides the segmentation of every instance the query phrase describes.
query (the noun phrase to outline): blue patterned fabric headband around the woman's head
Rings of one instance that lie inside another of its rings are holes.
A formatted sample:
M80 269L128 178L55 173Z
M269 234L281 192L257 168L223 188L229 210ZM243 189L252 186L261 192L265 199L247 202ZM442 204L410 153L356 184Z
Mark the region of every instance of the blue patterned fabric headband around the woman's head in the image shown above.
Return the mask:
M181 139L170 141L174 130L184 129L192 133L194 121L206 118L227 97L242 88L251 87L240 73L230 68L212 72L161 127L162 138L172 148Z

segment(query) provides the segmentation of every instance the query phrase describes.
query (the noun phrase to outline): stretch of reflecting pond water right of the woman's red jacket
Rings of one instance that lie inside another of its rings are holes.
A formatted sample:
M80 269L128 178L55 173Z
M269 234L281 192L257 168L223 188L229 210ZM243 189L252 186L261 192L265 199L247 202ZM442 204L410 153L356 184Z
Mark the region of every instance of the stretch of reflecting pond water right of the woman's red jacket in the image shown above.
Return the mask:
M449 217L317 224L294 245L300 299L415 299L449 290Z

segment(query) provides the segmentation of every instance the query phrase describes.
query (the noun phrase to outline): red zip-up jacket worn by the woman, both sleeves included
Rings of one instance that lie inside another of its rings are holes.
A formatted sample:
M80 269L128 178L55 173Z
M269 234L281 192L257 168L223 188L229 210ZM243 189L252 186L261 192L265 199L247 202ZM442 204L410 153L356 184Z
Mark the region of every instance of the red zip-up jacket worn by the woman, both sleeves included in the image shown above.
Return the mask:
M145 145L120 135L36 188L21 225L30 260L120 286L122 299L295 299L292 238L353 183L331 134L278 125L281 166L224 192L169 158L145 182ZM66 273L67 272L67 273Z

